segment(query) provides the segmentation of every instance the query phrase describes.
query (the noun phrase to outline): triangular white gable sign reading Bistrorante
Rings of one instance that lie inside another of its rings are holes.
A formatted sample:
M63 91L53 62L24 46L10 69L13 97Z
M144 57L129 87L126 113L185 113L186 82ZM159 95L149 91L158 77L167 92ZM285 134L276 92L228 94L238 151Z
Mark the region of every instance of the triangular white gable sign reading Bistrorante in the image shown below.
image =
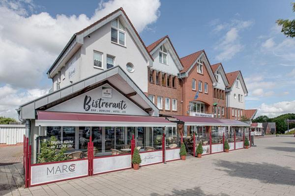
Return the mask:
M109 84L71 98L46 111L148 116L144 110Z

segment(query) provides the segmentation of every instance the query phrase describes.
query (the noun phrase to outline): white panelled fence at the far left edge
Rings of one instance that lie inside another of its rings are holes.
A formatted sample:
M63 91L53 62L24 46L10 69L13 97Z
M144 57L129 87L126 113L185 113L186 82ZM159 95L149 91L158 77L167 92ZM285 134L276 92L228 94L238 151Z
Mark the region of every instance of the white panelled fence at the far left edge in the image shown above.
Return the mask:
M24 143L25 124L0 124L0 144Z

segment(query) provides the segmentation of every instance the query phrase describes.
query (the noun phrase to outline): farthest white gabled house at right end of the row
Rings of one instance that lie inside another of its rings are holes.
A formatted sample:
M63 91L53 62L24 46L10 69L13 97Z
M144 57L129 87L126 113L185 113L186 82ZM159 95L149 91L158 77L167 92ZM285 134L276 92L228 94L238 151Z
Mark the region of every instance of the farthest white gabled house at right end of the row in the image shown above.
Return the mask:
M245 116L245 97L248 96L242 73L240 71L226 74L229 86L227 87L228 119L240 120Z

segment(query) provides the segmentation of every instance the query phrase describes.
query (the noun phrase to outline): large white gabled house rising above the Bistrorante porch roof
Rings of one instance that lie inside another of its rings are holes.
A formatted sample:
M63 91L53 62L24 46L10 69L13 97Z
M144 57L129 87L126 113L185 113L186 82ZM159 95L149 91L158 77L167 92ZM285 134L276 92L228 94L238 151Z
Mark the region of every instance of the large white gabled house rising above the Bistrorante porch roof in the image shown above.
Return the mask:
M47 74L56 91L116 65L148 92L153 59L122 8L75 33Z

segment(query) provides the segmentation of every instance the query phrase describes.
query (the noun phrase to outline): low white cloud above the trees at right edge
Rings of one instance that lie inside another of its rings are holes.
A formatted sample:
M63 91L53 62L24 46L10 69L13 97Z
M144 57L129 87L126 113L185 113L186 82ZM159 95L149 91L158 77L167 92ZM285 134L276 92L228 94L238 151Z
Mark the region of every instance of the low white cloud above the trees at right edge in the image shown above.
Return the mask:
M276 117L286 113L295 113L295 100L281 101L273 104L262 103L258 108L256 116L266 115L268 117Z

